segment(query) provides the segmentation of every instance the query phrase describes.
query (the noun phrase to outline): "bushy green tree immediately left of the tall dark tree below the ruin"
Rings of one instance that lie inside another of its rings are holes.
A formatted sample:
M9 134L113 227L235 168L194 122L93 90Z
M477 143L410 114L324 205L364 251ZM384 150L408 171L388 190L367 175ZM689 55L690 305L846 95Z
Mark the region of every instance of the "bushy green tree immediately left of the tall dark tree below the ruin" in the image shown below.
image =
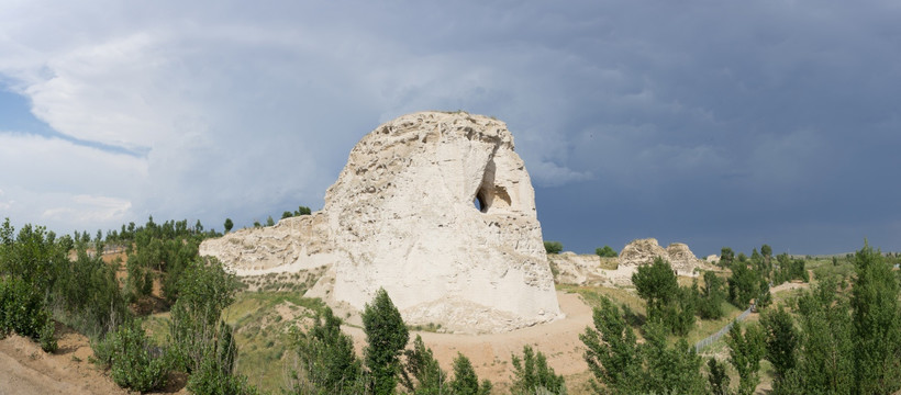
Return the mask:
M307 332L294 330L301 371L296 372L298 394L357 394L361 387L361 363L354 341L341 331L341 318L330 307L316 313Z

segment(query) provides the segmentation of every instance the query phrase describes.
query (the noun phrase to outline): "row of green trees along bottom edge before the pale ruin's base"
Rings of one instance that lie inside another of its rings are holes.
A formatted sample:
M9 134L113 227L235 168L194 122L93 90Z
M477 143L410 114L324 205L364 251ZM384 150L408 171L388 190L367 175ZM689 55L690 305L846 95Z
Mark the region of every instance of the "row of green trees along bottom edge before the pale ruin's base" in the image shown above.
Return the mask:
M294 372L296 394L393 394L402 386L413 394L489 394L488 380L479 382L469 359L457 353L453 377L438 365L432 350L416 336L407 349L409 331L385 290L376 293L363 312L367 346L363 358L351 337L341 331L341 319L331 308L320 312L308 331L293 331L300 371ZM531 347L512 356L515 394L564 394L564 379L547 366L546 357Z

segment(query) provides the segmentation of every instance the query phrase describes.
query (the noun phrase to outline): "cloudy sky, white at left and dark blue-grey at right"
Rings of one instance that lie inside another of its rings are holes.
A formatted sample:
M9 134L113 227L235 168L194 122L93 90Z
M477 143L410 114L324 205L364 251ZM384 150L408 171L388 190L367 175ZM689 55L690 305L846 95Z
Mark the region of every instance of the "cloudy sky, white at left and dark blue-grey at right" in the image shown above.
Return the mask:
M901 250L901 2L0 0L0 218L319 210L353 146L496 116L546 240Z

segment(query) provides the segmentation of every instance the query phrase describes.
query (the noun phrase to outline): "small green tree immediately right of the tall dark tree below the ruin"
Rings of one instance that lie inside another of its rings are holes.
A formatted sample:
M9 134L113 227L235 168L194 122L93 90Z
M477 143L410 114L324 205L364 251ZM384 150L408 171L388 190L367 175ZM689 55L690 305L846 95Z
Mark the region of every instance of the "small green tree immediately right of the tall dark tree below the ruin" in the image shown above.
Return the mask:
M416 395L440 395L447 393L447 374L438 365L432 350L425 347L422 337L416 335L413 349L405 350L407 364L401 372L401 383Z

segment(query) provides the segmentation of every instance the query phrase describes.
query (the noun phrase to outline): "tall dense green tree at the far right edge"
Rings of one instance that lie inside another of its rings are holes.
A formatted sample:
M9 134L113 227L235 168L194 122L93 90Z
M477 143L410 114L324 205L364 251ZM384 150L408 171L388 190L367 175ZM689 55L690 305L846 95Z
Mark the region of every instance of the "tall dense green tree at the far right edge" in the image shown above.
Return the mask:
M901 305L898 279L882 252L868 244L854 256L857 280L852 290L855 381L865 394L901 388Z

